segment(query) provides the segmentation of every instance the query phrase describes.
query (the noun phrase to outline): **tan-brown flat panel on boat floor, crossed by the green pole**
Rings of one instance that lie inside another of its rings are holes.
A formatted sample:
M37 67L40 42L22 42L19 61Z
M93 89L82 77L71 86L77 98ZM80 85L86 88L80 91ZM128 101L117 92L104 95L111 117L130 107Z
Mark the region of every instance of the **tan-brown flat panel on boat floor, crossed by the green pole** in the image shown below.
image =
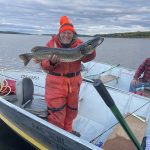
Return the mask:
M147 126L146 122L133 115L127 117L126 121L133 133L135 134L139 143L141 143ZM130 140L130 138L128 137L128 135L123 130L120 124L118 124L114 128L113 132L110 134L109 138L104 143L103 148L105 150L137 150L133 142Z

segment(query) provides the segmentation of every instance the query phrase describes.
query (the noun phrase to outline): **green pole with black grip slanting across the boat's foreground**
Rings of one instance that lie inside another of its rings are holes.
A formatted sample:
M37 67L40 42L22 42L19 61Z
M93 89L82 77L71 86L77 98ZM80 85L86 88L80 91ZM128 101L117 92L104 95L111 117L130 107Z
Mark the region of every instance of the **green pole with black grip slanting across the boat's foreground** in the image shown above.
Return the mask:
M115 105L115 102L113 101L112 97L110 96L109 92L105 88L105 86L102 83L102 81L101 80L93 81L93 80L88 80L88 79L83 79L83 81L86 81L86 82L89 82L89 83L93 83L95 89L101 95L101 97L104 100L105 104L110 108L110 110L112 111L112 113L114 114L116 119L119 121L119 123L121 124L122 128L125 130L127 135L130 137L130 139L132 140L132 142L134 143L136 148L138 150L143 150L142 147L140 146L138 140L134 136L133 132L129 128L128 124L124 120L124 118L123 118L122 114L120 113L119 109Z

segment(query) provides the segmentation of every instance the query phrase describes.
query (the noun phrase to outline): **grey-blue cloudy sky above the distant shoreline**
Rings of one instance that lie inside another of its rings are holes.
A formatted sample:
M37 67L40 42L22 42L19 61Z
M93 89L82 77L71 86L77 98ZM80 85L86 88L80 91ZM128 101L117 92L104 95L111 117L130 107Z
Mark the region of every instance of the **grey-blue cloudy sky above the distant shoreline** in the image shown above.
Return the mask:
M67 15L78 34L150 31L150 0L0 0L0 30L55 34Z

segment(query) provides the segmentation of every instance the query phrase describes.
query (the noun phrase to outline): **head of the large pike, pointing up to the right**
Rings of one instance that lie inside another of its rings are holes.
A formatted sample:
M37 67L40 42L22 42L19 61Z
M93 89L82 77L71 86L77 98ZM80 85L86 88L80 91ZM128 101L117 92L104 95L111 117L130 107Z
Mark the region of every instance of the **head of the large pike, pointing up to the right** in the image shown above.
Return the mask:
M81 45L80 51L83 55L91 54L103 41L104 38L101 38L99 34L95 35L94 38Z

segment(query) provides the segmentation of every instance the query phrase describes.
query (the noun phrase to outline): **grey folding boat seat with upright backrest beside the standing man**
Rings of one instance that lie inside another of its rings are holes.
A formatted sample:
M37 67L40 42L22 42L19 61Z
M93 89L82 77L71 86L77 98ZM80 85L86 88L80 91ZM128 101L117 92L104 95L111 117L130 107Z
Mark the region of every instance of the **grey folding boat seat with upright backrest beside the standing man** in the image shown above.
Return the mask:
M16 105L34 115L47 117L47 106L42 98L33 98L34 85L30 78L23 78L16 82L16 95L18 102Z

